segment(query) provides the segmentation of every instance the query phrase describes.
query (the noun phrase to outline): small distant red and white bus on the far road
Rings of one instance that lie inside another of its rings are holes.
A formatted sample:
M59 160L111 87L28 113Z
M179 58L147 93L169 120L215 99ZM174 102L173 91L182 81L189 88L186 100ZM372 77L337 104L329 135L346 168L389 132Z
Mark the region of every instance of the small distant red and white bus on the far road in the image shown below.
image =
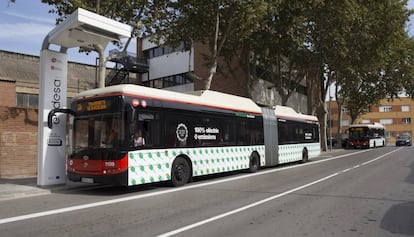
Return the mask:
M380 123L354 124L349 126L349 146L375 148L386 145L385 127Z

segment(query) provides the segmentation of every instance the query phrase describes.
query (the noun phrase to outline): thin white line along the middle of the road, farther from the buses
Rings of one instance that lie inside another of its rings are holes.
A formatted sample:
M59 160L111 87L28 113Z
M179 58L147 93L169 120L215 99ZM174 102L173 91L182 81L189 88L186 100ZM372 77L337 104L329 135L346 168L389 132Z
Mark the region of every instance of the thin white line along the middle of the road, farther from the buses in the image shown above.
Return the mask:
M400 150L400 149L398 149L398 150ZM381 155L381 156L379 156L379 157L377 157L377 158L374 158L374 159L372 159L372 160L370 160L370 161L368 161L368 162L364 162L364 163L365 163L365 164L369 164L369 163L371 163L371 162L374 162L374 161L376 161L376 160L379 160L379 159L381 159L381 158L384 158L385 156L387 156L387 155L389 155L389 154L391 154L391 153L394 153L394 152L396 152L396 151L398 151L398 150L394 150L394 151L388 152L388 153L386 153L386 154L384 154L384 155ZM331 178L333 178L333 177L335 177L335 176L337 176L337 175L340 175L340 174L346 173L346 172L351 171L351 170L354 170L354 169L356 169L356 168L355 168L355 166L354 166L353 168L347 168L347 169L344 169L344 170L342 170L342 171L339 171L339 172L333 173L333 174L331 174L331 175L325 176L325 177L323 177L323 178L321 178L321 179L315 180L315 181L313 181L313 182L311 182L311 183L307 183L307 184L302 185L302 186L300 186L300 187L297 187L297 188L294 188L294 189L288 190L288 191L286 191L286 192L283 192L283 193L280 193L280 194L277 194L277 195L274 195L274 196L271 196L271 197L265 198L265 199L260 200L260 201L258 201L258 202L254 202L254 203L251 203L251 204L249 204L249 205L246 205L246 206L243 206L243 207L240 207L240 208L237 208L237 209L234 209L234 210L231 210L231 211L228 211L228 212L222 213L222 214L220 214L220 215L213 216L213 217L210 217L210 218L208 218L208 219L205 219L205 220L202 220L202 221L196 222L196 223L194 223L194 224L190 224L190 225L187 225L187 226L183 226L183 227L181 227L181 228L178 228L178 229L172 230L172 231L170 231L170 232L167 232L167 233L164 233L164 234L160 234L160 235L158 235L158 237L169 237L169 236L173 236L173 235L176 235L176 234L182 233L182 232L187 231L187 230L190 230L190 229L194 229L194 228L196 228L196 227L198 227L198 226L201 226L201 225L204 225L204 224L207 224L207 223L210 223L210 222L216 221L216 220L218 220L218 219L222 219L222 218L225 218L225 217L227 217L227 216L230 216L230 215L233 215L233 214L236 214L236 213L239 213L239 212L245 211L245 210L247 210L247 209L249 209L249 208L259 206L259 205L264 204L264 203L266 203L266 202L270 202L270 201L272 201L272 200L274 200L274 199L281 198L281 197L286 196L286 195L288 195L288 194L290 194L290 193L293 193L293 192L296 192L296 191L299 191L299 190L305 189L305 188L307 188L307 187L310 187L310 186L312 186L312 185L315 185L315 184L321 183L321 182L323 182L323 181L325 181L325 180L331 179Z

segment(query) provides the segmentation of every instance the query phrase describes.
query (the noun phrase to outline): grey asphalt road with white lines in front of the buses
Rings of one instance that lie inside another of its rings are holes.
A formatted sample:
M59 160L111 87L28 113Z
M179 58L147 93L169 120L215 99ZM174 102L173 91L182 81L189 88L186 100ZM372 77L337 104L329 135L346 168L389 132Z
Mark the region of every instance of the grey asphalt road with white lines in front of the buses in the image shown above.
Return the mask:
M414 147L0 202L1 236L414 236Z

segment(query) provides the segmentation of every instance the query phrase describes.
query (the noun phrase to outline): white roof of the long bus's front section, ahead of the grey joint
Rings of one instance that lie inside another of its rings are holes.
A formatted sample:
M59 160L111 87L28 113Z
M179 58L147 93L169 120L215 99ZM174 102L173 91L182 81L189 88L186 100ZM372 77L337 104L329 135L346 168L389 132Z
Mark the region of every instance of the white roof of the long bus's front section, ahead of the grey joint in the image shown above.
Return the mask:
M87 90L75 96L76 99L95 97L109 94L128 94L152 99L176 101L181 103L204 105L220 109L229 109L240 112L261 114L260 107L251 99L225 94L212 90L196 91L191 93L179 93L168 90L155 89L139 85L122 84Z

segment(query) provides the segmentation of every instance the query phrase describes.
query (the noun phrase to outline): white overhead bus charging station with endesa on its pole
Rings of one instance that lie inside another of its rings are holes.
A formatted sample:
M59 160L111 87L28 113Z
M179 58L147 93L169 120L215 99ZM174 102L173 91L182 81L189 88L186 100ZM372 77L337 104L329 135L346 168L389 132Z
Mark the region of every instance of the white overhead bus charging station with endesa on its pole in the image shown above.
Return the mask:
M86 47L97 50L104 58L104 49L109 41L127 37L131 37L131 26L79 8L43 40L40 53L38 185L66 182L66 115L54 116L53 128L47 126L47 118L50 110L66 107L67 49ZM49 50L50 44L60 46L60 51ZM105 85L104 64L100 64L99 75L102 87Z

